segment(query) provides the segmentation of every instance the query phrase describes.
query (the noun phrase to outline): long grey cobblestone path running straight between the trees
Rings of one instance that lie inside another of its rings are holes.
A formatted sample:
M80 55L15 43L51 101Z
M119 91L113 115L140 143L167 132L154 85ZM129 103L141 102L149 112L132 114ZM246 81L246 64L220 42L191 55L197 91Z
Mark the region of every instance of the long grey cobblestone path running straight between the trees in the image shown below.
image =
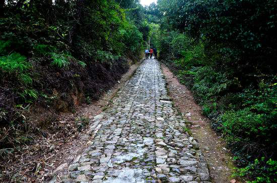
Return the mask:
M209 182L197 142L168 97L157 60L145 60L96 116L89 147L62 182ZM58 181L58 180L56 180Z

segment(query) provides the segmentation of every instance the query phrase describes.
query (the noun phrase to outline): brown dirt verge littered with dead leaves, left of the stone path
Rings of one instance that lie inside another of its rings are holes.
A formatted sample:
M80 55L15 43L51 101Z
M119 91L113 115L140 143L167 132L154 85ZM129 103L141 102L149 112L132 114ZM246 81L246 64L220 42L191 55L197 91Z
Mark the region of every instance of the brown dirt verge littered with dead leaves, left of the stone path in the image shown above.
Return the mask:
M64 112L55 114L53 121L49 121L47 128L52 127L44 136L34 136L35 140L29 145L19 147L20 149L0 160L0 181L27 181L43 182L50 180L49 175L59 164L71 161L78 152L82 151L87 139L84 131L94 116L105 110L111 99L116 94L122 84L128 80L140 62L130 66L129 70L122 75L121 79L109 89L102 93L97 101L90 105L81 104L75 108L75 112ZM76 99L79 101L79 99ZM77 103L76 103L77 104ZM34 109L34 114L38 111L44 115L52 115L45 109ZM41 116L38 115L36 120ZM45 127L46 128L46 127Z

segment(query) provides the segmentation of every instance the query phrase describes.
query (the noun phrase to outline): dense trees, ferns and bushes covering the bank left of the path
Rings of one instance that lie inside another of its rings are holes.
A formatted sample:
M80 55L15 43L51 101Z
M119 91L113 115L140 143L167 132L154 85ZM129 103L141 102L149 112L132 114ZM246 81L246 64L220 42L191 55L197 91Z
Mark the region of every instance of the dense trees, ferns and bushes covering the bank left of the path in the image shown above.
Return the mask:
M76 106L74 98L98 99L126 72L127 57L140 57L143 34L115 1L19 0L0 6L0 149L37 132L28 119L31 106L68 111Z

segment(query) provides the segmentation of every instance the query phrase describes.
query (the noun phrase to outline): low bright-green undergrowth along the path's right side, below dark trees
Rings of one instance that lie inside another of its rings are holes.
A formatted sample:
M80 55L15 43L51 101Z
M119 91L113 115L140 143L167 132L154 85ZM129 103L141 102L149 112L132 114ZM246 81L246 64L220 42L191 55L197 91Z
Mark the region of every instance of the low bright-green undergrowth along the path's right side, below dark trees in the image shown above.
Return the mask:
M201 46L183 46L182 54L167 54L175 47L176 33L165 33L160 56L164 63L188 86L194 99L202 106L203 115L221 133L234 154L237 165L234 176L249 182L276 181L277 83L272 73L243 77L232 66L217 62L223 56ZM188 38L189 39L189 38ZM180 40L181 41L181 40ZM170 50L169 49L169 50ZM217 60L217 62L216 62ZM229 60L228 60L229 62ZM239 73L239 74L238 74ZM247 82L245 82L245 80Z

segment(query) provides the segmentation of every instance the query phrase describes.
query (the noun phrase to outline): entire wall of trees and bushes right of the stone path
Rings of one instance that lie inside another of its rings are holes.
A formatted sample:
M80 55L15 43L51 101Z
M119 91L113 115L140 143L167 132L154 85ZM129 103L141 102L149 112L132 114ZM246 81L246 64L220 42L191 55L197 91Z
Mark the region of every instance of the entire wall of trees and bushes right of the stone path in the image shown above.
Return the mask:
M161 0L158 7L166 15L160 59L223 134L238 175L275 182L276 3Z

